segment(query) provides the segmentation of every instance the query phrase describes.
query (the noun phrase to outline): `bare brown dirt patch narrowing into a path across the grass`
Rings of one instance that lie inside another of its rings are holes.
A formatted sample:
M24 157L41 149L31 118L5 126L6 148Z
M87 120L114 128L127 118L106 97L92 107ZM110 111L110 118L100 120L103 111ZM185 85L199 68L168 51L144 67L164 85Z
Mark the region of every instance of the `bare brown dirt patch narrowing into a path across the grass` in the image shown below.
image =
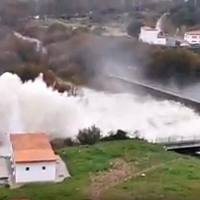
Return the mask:
M124 181L127 181L133 177L142 176L145 173L163 167L169 163L175 162L178 159L173 159L171 161L160 163L148 167L144 170L138 171L134 163L126 163L125 161L118 159L113 161L112 168L107 172L99 173L92 179L92 185L90 188L91 200L100 200L101 193L109 188L112 188Z

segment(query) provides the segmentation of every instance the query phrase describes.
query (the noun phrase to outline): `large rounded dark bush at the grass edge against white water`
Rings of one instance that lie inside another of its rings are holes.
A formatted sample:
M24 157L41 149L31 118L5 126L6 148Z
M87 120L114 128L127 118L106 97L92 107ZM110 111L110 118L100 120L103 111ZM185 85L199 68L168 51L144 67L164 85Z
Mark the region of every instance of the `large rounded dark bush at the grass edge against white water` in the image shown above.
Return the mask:
M80 130L77 136L80 144L93 145L96 142L100 141L100 129L92 126L91 128Z

